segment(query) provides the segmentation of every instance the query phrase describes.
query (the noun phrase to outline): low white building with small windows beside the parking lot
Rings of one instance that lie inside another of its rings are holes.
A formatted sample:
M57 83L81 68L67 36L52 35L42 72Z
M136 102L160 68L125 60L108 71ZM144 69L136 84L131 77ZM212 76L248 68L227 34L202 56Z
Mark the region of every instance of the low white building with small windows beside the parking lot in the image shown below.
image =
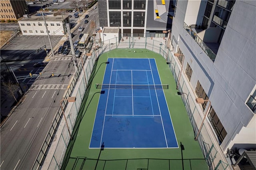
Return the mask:
M51 36L60 36L65 34L66 23L69 23L68 16L44 16L48 32ZM20 31L23 35L36 36L47 35L44 19L42 16L30 16L18 21Z

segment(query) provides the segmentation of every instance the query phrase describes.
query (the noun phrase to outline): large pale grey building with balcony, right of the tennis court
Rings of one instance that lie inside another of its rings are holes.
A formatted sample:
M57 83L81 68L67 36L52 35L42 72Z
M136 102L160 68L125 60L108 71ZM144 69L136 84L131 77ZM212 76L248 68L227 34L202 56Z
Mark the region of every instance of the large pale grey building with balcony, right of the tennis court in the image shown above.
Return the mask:
M256 149L255 17L251 0L176 2L172 49L181 54L191 91L211 101L206 122L223 153Z

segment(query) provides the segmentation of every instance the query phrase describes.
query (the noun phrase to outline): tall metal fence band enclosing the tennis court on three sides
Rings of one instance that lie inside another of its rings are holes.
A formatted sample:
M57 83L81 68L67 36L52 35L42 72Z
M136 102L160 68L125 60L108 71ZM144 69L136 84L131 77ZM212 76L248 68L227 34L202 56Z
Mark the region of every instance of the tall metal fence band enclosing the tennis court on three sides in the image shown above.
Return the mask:
M113 41L115 41L116 43L112 43ZM88 91L86 91L88 90L86 89L86 85L90 84L90 77L93 76L95 72L95 63L97 62L97 58L102 53L116 48L136 47L149 49L151 51L159 53L160 55L162 55L162 57L166 59L166 62L169 65L170 71L172 72L176 83L178 75L180 74L180 63L178 62L178 59L174 58L171 49L166 47L165 43L163 43L163 39L161 38L158 38L158 40L154 40L154 38L123 37L123 40L114 38L112 40L98 42L100 43L96 45L100 46L100 48L98 48L97 50L93 50L92 55L87 59L86 57L84 57L84 59L86 60L84 61L84 72L82 71L82 63L79 63L78 71L74 74L73 80L70 83L70 87L67 90L65 99L67 99L72 94L72 96L76 96L76 101L69 104L67 103L67 101L63 102L64 108L66 108L67 105L71 105L71 107L69 107L71 109L67 109L67 111L65 112L65 115L67 115L66 117L68 121L68 126L70 127L71 132L74 130L74 132L76 132L77 128L79 127L79 125L75 124L76 119L82 119L80 115L78 117L78 112L84 95L88 95ZM78 81L79 76L82 76L82 78L80 78ZM187 82L188 81L186 80L185 74L182 75L179 80L179 91L182 101L186 107L190 122L194 128L194 134L196 135L198 133L198 126L202 123L203 120L202 109L198 107L199 105L195 102L196 97L194 96L194 94L190 93L191 88ZM74 90L75 86L76 90ZM89 87L89 85L87 87ZM38 169L42 166L44 158L47 154L47 148L50 145L50 141L54 137L54 132L56 128L58 128L61 117L62 112L61 109L59 109L56 114L56 118L54 119L52 128L49 130L42 149L38 154L38 158L34 164L33 169ZM228 164L225 163L226 160L222 160L223 154L217 151L216 147L219 146L214 145L214 142L212 141L216 139L213 139L210 133L212 132L207 129L206 125L203 125L200 135L198 137L198 142L200 144L200 148L202 150L204 158L209 166L209 169L225 170L228 167ZM45 167L46 169L58 170L62 167L65 152L68 148L68 143L72 142L72 140L70 140L70 136L68 134L68 129L66 126L62 126L61 135L57 140L58 144L55 148L50 163L47 165L47 167Z

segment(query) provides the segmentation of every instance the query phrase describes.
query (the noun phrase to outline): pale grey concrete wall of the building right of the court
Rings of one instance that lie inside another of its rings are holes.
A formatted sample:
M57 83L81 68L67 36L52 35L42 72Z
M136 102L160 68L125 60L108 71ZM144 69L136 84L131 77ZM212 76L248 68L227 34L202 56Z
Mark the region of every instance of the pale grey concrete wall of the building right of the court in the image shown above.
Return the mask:
M172 23L172 36L178 40L172 42L174 52L180 47L185 56L183 69L188 63L193 70L192 89L200 81L227 132L220 145L223 151L234 143L256 143L256 138L250 138L256 133L256 125L250 123L255 114L246 105L256 84L256 2L236 1L214 63L183 28L184 19L188 25L195 24L188 18L196 14L186 15L186 11L191 12L187 9L188 2L177 3Z

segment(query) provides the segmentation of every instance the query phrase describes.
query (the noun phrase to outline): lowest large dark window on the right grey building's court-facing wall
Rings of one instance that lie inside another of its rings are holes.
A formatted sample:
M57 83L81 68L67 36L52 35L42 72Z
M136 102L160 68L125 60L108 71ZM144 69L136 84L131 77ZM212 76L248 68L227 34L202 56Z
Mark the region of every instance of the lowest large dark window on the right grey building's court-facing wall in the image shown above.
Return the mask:
M213 107L211 107L210 112L208 114L208 119L210 120L212 127L214 128L215 133L218 136L219 143L221 144L224 138L227 135L226 130L224 129L220 119L218 118L217 114L215 113Z

